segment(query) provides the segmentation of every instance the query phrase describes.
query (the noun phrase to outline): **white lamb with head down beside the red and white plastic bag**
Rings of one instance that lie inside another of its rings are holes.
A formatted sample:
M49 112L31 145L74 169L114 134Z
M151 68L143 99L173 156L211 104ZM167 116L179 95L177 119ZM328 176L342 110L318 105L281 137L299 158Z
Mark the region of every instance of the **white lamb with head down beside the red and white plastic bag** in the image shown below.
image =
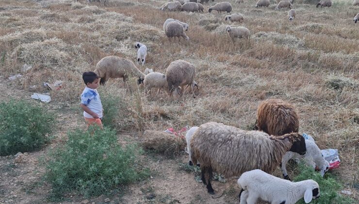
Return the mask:
M315 167L317 166L322 176L324 176L326 171L329 170L329 162L326 161L326 159L322 154L322 151L320 151L319 147L315 144L315 142L308 139L306 139L305 142L306 142L307 152L304 156L299 155L298 153L287 152L282 157L280 169L282 170L284 179L291 180L288 176L286 165L288 161L292 158L295 158L295 160L296 161L298 160L298 162L299 159L304 158L305 162L309 166L313 167L313 169L315 169Z

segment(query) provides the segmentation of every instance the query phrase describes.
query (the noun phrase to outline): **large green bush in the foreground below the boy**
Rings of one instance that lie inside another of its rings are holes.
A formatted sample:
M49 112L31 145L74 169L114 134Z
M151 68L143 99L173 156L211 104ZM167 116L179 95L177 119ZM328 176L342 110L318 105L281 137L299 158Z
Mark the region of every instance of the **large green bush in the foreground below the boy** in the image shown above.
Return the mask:
M123 185L148 176L139 170L136 145L122 147L115 131L109 128L68 134L64 147L49 153L45 179L52 185L52 199L61 199L68 191L77 190L85 197L121 189Z

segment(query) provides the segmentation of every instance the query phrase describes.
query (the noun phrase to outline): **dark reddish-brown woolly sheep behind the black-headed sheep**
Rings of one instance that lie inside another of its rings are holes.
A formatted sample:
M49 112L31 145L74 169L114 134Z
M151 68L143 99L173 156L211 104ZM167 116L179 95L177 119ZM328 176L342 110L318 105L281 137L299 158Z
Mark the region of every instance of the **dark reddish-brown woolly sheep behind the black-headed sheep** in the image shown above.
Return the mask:
M258 130L269 135L281 136L299 131L299 117L294 106L279 99L259 104L257 122Z

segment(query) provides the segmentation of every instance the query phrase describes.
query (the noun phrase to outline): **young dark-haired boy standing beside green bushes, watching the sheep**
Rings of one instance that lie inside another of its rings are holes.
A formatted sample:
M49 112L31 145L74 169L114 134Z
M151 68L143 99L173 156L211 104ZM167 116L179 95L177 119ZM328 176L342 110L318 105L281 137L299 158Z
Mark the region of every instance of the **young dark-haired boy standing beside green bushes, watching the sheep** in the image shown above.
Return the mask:
M98 76L95 72L89 71L82 74L86 87L81 94L81 108L87 127L97 124L102 128L102 103L96 88L98 87Z

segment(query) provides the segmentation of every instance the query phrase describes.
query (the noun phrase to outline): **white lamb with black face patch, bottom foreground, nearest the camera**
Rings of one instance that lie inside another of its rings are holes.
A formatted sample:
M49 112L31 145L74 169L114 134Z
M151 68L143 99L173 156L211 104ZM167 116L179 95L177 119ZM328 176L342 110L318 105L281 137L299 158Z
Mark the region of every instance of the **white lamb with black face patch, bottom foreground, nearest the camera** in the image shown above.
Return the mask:
M320 196L319 185L314 180L290 182L262 170L244 172L239 177L240 204L256 204L258 198L271 204L295 204L304 197L305 203Z

